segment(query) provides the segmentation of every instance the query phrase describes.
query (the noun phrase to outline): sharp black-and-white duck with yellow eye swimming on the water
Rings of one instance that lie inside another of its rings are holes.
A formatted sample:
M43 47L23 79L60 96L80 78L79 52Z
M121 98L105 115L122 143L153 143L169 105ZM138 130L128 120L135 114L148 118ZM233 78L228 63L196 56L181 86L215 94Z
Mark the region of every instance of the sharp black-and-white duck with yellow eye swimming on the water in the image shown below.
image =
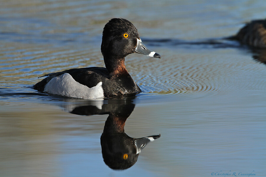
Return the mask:
M80 99L134 96L142 91L126 70L125 57L138 53L161 58L144 45L137 28L123 18L113 18L104 26L101 53L106 68L74 68L49 73L33 88L48 94Z

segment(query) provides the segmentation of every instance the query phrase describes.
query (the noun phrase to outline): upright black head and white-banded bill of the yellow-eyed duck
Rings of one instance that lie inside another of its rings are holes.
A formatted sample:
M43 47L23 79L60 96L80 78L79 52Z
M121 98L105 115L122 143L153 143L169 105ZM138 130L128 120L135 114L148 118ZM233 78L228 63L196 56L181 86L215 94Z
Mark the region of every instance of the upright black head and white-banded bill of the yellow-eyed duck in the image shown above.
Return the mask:
M103 28L101 52L104 57L124 58L131 53L161 58L141 41L137 28L128 20L113 18Z

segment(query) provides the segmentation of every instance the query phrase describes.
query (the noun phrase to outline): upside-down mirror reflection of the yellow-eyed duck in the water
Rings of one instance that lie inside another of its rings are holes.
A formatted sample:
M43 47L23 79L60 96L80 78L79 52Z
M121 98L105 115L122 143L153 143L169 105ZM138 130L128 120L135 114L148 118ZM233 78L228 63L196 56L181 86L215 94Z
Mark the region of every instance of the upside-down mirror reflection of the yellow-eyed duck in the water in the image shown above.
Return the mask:
M134 110L132 98L109 99L107 104L83 105L71 113L79 115L109 114L101 135L103 161L114 170L124 170L137 162L141 150L160 135L132 138L124 132L126 119Z

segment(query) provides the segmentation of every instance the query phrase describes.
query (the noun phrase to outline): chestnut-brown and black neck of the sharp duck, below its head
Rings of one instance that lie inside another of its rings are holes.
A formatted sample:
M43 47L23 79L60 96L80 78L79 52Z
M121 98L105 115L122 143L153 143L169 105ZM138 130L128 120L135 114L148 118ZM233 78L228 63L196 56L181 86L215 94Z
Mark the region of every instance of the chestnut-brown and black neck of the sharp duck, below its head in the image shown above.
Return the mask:
M125 58L103 57L103 59L111 78L129 75L125 66Z

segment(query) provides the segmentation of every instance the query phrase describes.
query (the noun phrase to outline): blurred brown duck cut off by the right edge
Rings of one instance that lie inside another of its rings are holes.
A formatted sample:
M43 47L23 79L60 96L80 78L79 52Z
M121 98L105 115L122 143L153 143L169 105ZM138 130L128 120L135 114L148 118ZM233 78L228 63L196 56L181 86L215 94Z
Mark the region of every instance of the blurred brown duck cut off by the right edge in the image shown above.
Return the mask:
M242 44L252 47L266 48L266 19L253 20L247 23L239 32L232 37L232 40L239 40Z

